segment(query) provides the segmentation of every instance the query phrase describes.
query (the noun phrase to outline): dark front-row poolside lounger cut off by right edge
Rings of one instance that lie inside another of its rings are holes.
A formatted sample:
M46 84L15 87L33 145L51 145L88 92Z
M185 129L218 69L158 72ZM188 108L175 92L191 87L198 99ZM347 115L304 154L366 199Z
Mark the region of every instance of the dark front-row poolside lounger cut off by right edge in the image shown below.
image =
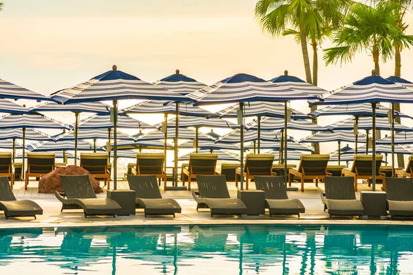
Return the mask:
M388 210L391 217L413 217L413 178L385 179Z

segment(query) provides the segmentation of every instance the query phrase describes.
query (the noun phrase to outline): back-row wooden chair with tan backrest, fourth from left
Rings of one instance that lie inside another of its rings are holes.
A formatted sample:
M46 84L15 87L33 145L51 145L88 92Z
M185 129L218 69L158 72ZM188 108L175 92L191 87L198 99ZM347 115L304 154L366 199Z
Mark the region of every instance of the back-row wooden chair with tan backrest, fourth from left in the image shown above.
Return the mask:
M155 175L164 180L164 190L167 190L167 172L164 168L164 153L137 153L136 168L131 168L131 175Z

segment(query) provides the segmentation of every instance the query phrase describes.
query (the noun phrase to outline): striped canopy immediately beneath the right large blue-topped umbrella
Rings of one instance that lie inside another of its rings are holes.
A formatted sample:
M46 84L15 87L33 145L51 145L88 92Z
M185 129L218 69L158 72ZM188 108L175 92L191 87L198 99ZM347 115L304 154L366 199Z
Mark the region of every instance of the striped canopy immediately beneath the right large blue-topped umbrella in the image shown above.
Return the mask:
M381 104L377 104L376 116L388 116L388 107L384 107ZM350 104L350 105L332 105L327 106L319 110L312 111L310 115L372 115L372 104L361 103L361 104ZM404 113L394 111L394 116L401 118L410 118L410 115L405 115Z

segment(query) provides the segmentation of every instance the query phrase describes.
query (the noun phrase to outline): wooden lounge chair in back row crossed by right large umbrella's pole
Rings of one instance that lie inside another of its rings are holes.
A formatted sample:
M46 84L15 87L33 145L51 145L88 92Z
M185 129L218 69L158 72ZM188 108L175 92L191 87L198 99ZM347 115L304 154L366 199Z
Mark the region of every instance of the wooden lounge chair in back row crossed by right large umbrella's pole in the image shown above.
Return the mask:
M343 168L343 170L341 170L343 176L354 178L354 190L357 191L358 179L367 179L370 183L370 180L372 179L372 159L372 155L354 155L352 168ZM383 181L383 190L385 190L385 175L380 172L382 161L383 155L376 155L376 179L381 179Z

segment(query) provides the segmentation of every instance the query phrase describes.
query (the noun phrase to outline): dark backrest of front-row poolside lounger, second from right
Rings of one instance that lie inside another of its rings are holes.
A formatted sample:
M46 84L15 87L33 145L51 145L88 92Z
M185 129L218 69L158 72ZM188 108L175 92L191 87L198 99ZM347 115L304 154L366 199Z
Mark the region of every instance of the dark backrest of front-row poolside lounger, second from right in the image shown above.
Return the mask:
M324 177L326 199L356 199L353 177Z

